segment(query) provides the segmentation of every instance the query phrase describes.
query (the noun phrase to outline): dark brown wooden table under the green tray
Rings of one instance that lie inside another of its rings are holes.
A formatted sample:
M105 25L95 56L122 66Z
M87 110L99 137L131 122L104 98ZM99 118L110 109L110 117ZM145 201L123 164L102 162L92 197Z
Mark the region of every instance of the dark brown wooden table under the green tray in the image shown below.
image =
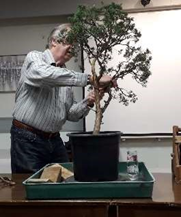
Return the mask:
M181 217L181 184L171 174L153 175L152 198L115 200L26 200L29 175L13 175L15 186L0 187L0 217Z

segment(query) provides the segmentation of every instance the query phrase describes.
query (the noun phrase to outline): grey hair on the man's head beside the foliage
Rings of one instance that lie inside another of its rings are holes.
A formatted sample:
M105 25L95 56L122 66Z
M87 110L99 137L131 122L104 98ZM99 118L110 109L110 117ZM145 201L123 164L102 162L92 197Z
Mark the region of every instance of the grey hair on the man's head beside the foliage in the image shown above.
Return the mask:
M64 23L59 26L56 26L51 32L47 39L46 48L51 48L52 40L56 40L57 42L61 42L66 38L67 31L71 28L69 23Z

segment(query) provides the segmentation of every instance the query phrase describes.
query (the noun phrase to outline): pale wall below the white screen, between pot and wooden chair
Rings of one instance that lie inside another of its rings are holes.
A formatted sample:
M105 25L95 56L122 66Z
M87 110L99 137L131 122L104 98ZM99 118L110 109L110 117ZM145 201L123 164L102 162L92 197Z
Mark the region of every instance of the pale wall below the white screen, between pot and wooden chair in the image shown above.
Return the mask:
M126 161L128 150L136 150L151 172L171 173L172 138L122 138L120 161Z

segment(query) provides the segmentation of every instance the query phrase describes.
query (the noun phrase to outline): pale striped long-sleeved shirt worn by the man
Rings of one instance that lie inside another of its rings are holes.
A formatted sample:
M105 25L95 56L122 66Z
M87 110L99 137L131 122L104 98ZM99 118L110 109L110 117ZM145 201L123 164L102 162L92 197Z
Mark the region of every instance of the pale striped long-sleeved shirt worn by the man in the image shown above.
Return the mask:
M49 49L28 53L21 69L13 118L45 132L58 132L66 120L78 121L89 108L76 103L72 86L86 86L87 74L55 67Z

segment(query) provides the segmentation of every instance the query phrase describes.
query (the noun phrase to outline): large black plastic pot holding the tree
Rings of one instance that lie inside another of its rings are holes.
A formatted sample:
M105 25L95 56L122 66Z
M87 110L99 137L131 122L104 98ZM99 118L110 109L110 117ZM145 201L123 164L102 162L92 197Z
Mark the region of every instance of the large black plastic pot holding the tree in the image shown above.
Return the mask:
M118 179L121 132L70 133L74 178L81 182Z

